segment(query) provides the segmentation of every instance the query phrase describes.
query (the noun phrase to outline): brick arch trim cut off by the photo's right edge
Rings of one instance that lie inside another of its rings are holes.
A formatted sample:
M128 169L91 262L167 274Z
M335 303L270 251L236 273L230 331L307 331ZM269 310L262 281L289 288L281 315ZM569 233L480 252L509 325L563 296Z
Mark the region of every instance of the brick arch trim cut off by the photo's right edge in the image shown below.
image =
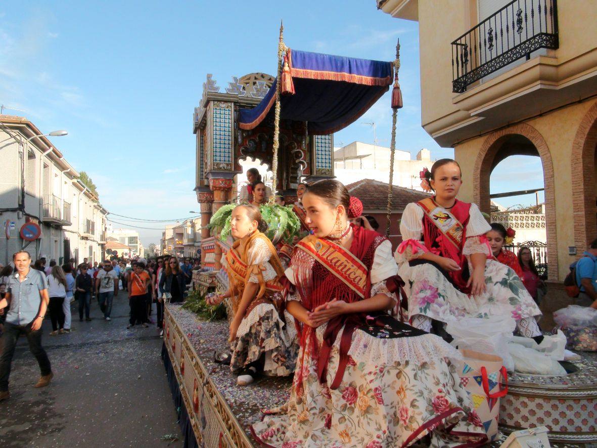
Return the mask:
M595 146L597 146L597 102L578 125L572 143L572 202L576 253L586 250L597 237L595 220Z

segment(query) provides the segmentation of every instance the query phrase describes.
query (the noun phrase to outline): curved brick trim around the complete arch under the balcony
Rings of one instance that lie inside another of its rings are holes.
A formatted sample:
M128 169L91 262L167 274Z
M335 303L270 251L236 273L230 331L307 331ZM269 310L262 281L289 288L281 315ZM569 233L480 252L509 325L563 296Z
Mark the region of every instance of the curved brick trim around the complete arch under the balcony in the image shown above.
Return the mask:
M515 135L530 140L537 149L543 165L543 185L545 188L545 226L547 233L547 276L551 281L558 280L558 244L556 239L555 186L553 183L552 155L543 136L533 126L520 123L491 133L481 146L475 161L473 173L473 202L481 211L490 213L490 175L494 158L501 145Z

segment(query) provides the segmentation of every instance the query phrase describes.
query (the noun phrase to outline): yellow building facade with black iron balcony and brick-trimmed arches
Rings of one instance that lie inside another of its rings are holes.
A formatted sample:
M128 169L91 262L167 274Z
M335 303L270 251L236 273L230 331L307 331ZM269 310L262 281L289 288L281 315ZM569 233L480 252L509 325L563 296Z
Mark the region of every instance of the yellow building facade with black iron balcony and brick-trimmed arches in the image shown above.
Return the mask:
M440 146L454 148L463 200L488 213L493 168L510 155L541 159L547 280L557 290L597 237L597 2L377 6L418 21L421 121Z

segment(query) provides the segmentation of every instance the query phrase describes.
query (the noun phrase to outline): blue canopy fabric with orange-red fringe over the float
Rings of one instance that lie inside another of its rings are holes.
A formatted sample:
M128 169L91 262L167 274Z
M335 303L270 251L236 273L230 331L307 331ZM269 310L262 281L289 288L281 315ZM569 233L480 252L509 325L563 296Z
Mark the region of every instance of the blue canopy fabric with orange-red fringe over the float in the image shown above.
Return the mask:
M287 62L295 93L282 94L281 119L306 121L312 135L331 134L346 127L367 112L392 84L391 62L300 50L288 50ZM278 79L256 108L239 111L241 129L253 129L273 113L277 83Z

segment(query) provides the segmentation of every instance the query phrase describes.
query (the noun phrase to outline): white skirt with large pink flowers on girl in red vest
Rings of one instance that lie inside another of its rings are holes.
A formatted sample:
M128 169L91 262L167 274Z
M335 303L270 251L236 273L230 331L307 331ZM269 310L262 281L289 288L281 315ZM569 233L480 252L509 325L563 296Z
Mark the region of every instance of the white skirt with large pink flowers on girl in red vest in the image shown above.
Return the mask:
M518 321L540 316L541 311L521 279L509 266L496 260L485 265L485 293L467 296L454 287L430 263L410 266L403 263L398 275L405 281L408 317L417 314L448 323L459 317L487 318L508 315Z

